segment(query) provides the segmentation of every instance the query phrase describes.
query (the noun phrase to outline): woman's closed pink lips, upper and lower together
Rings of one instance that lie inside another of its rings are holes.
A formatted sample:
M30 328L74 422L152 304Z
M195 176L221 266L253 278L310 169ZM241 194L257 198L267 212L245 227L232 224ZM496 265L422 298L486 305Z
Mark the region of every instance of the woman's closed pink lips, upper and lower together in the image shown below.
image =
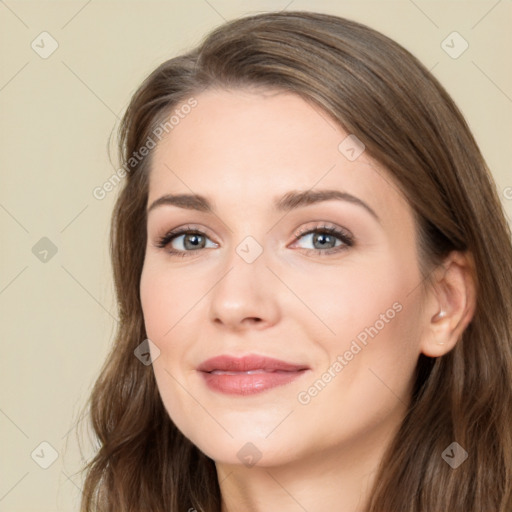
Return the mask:
M302 376L309 367L265 356L217 356L197 370L213 391L229 395L252 395L283 386Z

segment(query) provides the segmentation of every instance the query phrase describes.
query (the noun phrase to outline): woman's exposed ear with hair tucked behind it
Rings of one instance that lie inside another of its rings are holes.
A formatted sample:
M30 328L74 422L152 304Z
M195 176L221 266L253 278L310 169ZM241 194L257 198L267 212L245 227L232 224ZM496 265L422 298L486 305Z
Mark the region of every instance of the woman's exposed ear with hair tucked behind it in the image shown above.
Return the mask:
M427 293L426 329L421 352L447 354L456 345L476 308L475 265L470 253L451 252L432 276Z

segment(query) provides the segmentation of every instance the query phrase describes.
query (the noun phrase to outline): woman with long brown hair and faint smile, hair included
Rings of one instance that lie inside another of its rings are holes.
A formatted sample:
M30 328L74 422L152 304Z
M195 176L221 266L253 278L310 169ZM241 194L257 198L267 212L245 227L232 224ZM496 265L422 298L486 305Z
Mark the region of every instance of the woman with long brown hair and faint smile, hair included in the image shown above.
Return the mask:
M510 230L410 53L228 22L144 81L120 147L82 511L511 510Z

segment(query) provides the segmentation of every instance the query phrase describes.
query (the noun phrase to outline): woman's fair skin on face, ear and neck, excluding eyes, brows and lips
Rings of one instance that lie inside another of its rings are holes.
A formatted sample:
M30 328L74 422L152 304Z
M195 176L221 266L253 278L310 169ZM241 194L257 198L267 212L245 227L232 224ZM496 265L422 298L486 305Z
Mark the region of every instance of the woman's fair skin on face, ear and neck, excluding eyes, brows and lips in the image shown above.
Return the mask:
M160 351L153 369L163 403L215 461L223 512L362 511L406 411L419 354L451 350L471 318L467 260L453 253L423 289L410 205L366 152L354 161L340 152L348 134L317 106L270 90L195 97L197 107L154 149L150 173L148 205L171 193L212 203L208 212L162 205L148 214L140 293ZM379 220L339 200L273 208L275 198L310 189L348 192ZM348 230L354 245L321 254L312 235L294 238L324 224ZM187 250L183 236L157 247L187 225L205 233L205 248L169 253ZM236 251L247 236L263 251L252 263ZM300 403L393 304L400 312ZM259 394L226 395L196 371L220 354L266 355L309 370ZM250 467L237 456L247 443L260 456Z

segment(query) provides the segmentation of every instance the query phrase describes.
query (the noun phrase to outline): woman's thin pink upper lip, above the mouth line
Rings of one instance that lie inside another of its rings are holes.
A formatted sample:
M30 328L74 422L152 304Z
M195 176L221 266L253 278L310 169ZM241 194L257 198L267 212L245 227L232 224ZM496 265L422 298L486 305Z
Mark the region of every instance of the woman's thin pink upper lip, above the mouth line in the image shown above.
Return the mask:
M287 363L286 361L280 361L272 357L251 354L243 357L233 357L229 355L212 357L211 359L203 361L197 369L200 372L213 372L216 370L228 372L248 372L251 370L296 372L307 370L308 366Z

